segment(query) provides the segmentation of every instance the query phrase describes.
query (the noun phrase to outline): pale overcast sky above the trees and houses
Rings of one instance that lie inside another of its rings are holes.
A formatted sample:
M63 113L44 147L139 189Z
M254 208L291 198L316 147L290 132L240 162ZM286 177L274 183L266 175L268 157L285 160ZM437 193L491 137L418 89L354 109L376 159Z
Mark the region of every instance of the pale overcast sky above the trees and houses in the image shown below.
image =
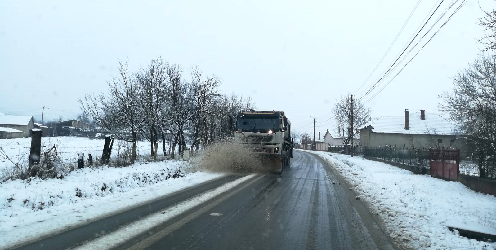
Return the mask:
M436 3L420 2L366 82L417 0L84 2L0 1L0 112L41 115L46 106L48 118L75 118L78 98L106 91L118 59L128 58L134 70L160 55L185 71L197 63L223 80L222 92L249 96L257 109L285 111L299 132L312 131L313 116L325 133L334 129L329 118L336 99L360 99ZM450 2L444 0L425 29ZM484 35L477 24L481 8L495 6L495 0L468 0L367 103L372 116L401 116L405 108L438 112L437 95L450 90L449 78L483 49L476 41Z

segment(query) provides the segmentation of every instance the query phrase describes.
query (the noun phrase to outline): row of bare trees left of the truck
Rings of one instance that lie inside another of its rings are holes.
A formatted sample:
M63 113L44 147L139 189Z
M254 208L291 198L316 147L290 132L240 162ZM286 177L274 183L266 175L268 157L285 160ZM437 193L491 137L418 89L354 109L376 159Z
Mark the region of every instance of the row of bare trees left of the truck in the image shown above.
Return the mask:
M166 138L172 138L174 157L191 141L191 148L208 146L230 135L228 117L241 109L253 108L249 98L219 92L221 79L206 76L191 67L188 79L184 68L160 57L137 71L119 61L119 75L108 82L109 92L87 94L80 101L82 111L96 126L132 142L131 162L136 159L136 142L145 138L156 159L159 142L166 154ZM189 139L189 140L188 140Z

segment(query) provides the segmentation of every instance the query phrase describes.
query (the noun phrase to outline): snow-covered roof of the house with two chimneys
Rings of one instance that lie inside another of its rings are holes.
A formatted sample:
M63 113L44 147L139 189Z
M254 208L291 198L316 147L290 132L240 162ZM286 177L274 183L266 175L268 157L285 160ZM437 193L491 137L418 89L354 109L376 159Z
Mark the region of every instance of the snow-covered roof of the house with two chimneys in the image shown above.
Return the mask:
M410 112L408 130L405 129L405 116L381 116L371 126L374 133L395 134L435 134L452 135L455 125L435 113L425 112L425 120L420 119L420 112Z

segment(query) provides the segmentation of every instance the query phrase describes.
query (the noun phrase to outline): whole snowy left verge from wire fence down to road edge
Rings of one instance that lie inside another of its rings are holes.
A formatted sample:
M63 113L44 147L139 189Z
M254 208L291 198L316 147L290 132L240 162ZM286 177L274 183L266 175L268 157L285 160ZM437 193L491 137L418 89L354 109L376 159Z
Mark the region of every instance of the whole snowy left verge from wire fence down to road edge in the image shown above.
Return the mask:
M171 178L179 169L186 176ZM0 249L222 176L195 170L191 162L168 160L0 183Z

